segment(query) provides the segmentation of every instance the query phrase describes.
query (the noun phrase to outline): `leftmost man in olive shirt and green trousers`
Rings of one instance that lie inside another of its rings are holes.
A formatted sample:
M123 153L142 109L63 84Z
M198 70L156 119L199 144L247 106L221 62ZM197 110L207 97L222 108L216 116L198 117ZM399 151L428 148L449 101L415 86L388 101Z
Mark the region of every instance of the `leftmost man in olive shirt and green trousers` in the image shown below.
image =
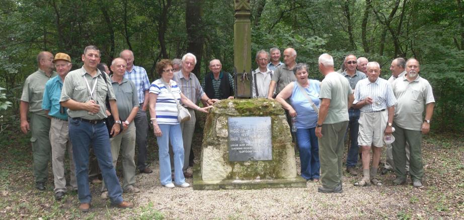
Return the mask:
M37 55L39 69L26 78L21 95L20 117L21 131L27 134L31 131L32 156L34 158L33 175L35 187L45 190L47 181L47 165L50 158L50 119L42 109L43 90L45 83L56 76L53 71L53 54L42 51ZM27 113L30 112L30 122L27 121Z

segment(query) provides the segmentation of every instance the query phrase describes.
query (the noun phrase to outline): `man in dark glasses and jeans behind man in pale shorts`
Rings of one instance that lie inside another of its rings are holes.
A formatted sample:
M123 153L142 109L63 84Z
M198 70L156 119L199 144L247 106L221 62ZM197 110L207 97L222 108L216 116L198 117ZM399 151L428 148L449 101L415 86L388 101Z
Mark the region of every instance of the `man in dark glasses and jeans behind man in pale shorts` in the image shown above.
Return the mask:
M349 54L345 57L345 71L341 74L348 79L351 89L356 87L356 84L359 80L365 79L366 74L361 71L356 70L357 59L353 54ZM359 154L359 145L358 145L358 132L359 132L359 109L351 107L348 109L349 123L347 128L350 132L350 148L348 149L348 155L346 156L346 171L353 176L357 176L358 172L356 171L356 165L358 163L358 154Z

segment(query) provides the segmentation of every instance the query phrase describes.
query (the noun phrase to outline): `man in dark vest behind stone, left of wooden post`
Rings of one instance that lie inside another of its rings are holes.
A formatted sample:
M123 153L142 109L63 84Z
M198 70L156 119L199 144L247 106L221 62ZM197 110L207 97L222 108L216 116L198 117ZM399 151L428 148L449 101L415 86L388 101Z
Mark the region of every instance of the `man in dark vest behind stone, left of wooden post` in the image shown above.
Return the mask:
M234 98L234 78L228 72L222 71L221 61L209 61L209 72L205 75L203 89L210 98Z

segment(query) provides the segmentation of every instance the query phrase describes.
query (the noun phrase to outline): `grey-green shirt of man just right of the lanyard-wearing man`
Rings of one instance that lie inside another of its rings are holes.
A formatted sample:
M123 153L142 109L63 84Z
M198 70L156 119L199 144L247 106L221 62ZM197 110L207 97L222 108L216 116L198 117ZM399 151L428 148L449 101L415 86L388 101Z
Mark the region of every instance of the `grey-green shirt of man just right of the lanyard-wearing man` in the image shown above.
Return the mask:
M121 84L111 79L111 85L118 99L116 103L118 104L119 118L124 122L129 117L132 108L140 106L137 88L132 80L129 81L126 78L122 79Z

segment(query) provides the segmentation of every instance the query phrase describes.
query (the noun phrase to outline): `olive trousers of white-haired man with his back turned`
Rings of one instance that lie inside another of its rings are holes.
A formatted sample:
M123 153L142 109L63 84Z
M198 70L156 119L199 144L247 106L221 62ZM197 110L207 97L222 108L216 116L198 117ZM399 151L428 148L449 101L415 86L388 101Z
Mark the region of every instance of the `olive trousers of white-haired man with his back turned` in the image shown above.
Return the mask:
M319 138L319 161L321 163L321 182L325 188L333 189L342 185L343 148L348 121L322 125L322 138Z

